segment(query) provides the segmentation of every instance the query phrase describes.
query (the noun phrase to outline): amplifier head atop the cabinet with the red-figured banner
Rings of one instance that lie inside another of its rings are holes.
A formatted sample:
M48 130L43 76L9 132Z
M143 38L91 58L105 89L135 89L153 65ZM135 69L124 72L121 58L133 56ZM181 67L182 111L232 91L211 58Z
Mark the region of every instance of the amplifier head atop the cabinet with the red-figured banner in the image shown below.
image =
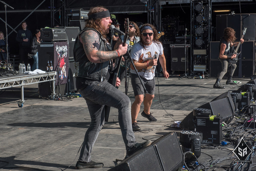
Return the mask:
M67 41L67 32L65 28L41 28L42 41Z

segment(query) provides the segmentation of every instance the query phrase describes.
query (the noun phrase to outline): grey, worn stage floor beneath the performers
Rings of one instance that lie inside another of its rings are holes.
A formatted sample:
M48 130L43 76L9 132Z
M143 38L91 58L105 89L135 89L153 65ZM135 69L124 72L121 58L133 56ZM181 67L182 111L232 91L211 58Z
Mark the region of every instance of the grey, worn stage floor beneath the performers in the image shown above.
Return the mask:
M174 120L184 119L194 108L210 102L226 91L237 90L250 79L234 80L242 83L234 86L225 85L226 89L214 89L213 84L216 81L214 78L179 80L175 75L168 79L159 77L158 81L156 79L155 98L151 106L151 112L154 112L153 115L158 121L149 122L141 116L142 104L137 119L142 131L135 132L136 140L138 142L151 138L156 140L169 132L182 131L169 126ZM119 88L122 92L125 92L124 81L123 79ZM225 83L226 79L223 79L221 84ZM5 167L2 170L58 171L72 164L66 169L71 170L76 165L80 154L78 151L90 123L85 100L82 97L71 99L72 101L40 99L37 91L37 84L24 86L26 101L22 108L17 105L20 99L20 88L0 91L0 168ZM129 83L128 96L133 103L134 94L131 83ZM168 113L173 114L173 118L168 116ZM231 151L234 149L233 146L228 148ZM209 149L202 149L202 152L214 158L229 153ZM109 122L105 123L91 153L92 160L102 162L104 166L87 170L108 170L115 166L115 159L123 159L125 154L118 124L118 111L111 108ZM201 154L198 158L199 163L209 158ZM231 161L223 161L219 165L229 165Z

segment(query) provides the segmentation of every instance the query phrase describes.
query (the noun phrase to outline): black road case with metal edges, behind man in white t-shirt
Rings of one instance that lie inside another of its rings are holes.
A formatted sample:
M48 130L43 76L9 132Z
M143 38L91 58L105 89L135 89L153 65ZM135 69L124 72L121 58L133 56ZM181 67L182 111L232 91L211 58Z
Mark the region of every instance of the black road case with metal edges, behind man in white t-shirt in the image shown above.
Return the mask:
M186 55L185 55L186 50ZM186 71L188 70L188 47L171 47L171 70L172 71Z

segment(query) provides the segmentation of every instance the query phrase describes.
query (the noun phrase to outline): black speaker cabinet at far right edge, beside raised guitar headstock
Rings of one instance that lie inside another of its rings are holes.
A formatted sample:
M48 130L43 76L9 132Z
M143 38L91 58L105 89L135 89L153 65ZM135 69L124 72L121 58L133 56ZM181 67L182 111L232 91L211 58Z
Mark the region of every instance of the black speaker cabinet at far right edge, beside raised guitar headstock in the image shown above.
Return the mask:
M244 40L256 40L256 14L242 14L242 29L247 28Z

